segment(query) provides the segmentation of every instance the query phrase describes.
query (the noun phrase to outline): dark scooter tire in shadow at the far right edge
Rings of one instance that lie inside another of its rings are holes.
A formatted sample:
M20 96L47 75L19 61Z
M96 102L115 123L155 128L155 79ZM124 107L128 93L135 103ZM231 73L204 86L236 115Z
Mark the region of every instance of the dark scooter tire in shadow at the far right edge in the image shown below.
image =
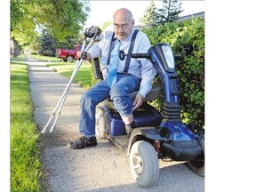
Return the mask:
M204 138L200 139L199 143L202 148L201 154L194 159L188 160L187 165L192 172L204 177Z

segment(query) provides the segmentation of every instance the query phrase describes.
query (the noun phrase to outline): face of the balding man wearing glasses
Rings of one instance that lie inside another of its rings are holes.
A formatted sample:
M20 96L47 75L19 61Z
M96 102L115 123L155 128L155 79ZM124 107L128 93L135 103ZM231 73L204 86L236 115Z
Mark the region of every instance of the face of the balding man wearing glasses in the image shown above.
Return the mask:
M134 27L134 20L131 20L127 12L116 12L114 16L114 29L116 37L124 41L131 33Z

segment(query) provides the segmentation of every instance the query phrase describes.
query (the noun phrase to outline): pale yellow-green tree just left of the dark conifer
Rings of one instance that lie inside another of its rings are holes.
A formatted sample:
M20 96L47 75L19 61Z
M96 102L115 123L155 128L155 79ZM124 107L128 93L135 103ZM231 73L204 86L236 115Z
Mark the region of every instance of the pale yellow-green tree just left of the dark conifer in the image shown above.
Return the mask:
M156 22L156 4L153 0L151 0L148 4L148 7L144 12L143 17L140 19L140 22L145 25Z

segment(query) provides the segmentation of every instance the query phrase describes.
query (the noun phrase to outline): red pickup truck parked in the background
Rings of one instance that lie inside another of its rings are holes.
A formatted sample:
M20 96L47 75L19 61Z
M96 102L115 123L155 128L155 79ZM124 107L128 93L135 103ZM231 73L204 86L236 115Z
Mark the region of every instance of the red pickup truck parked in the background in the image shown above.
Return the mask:
M74 60L77 60L76 52L80 51L81 48L81 44L76 44L76 50L59 48L56 50L56 57L62 58L62 60L64 60L65 62L73 62Z

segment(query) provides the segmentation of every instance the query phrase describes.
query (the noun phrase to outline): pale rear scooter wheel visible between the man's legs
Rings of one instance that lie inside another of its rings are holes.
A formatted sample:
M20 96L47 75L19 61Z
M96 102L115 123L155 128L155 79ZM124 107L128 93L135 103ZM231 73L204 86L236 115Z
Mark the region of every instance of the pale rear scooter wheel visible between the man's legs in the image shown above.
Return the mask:
M105 124L105 112L102 108L96 108L95 113L95 132L96 136L98 136L100 139L105 138L105 132L106 132L106 124Z

